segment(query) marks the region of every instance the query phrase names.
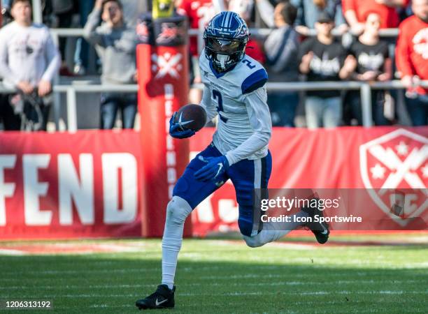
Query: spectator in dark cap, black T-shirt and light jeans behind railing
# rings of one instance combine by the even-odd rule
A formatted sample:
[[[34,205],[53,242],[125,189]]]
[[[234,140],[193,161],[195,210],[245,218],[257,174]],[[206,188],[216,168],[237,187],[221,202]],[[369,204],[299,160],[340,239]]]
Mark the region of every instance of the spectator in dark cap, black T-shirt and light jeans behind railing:
[[[331,34],[334,22],[327,13],[320,14],[315,23],[317,36],[308,38],[300,47],[299,70],[308,81],[346,80],[357,61]],[[306,124],[308,128],[333,128],[341,123],[342,103],[338,90],[308,91],[306,93]]]

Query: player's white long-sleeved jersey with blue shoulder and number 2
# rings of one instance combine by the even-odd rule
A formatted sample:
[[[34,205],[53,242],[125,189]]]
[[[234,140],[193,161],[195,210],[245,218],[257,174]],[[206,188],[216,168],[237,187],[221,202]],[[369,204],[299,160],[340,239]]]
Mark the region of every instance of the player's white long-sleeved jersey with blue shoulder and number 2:
[[[215,147],[227,157],[229,165],[266,156],[272,122],[263,66],[245,55],[232,70],[217,73],[203,53],[199,67],[204,83],[201,105],[208,121],[219,115],[213,135]]]

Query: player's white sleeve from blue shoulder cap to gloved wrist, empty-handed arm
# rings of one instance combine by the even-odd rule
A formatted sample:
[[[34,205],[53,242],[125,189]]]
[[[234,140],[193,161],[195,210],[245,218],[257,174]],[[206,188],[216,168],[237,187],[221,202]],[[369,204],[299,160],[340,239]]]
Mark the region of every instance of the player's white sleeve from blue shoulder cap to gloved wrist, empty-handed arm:
[[[271,138],[272,121],[269,107],[267,105],[266,88],[262,87],[245,95],[245,107],[250,119],[250,126],[254,133],[241,145],[228,151],[226,158],[229,165],[237,163],[239,160],[248,158],[259,149],[262,149]]]

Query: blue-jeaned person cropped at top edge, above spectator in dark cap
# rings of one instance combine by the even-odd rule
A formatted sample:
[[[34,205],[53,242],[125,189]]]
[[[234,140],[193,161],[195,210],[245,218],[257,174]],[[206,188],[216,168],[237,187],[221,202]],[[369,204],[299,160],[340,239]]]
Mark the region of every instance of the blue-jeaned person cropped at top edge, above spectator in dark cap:
[[[309,29],[314,29],[322,12],[333,17],[334,24],[342,33],[348,30],[340,0],[292,0],[291,3],[297,8],[296,29],[299,33],[307,35]]]

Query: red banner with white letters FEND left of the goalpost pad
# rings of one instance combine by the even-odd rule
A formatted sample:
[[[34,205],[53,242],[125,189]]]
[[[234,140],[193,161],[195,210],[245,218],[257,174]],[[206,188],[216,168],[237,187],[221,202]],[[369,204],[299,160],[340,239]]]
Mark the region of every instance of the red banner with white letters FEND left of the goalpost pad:
[[[0,133],[0,238],[141,235],[134,131]]]

